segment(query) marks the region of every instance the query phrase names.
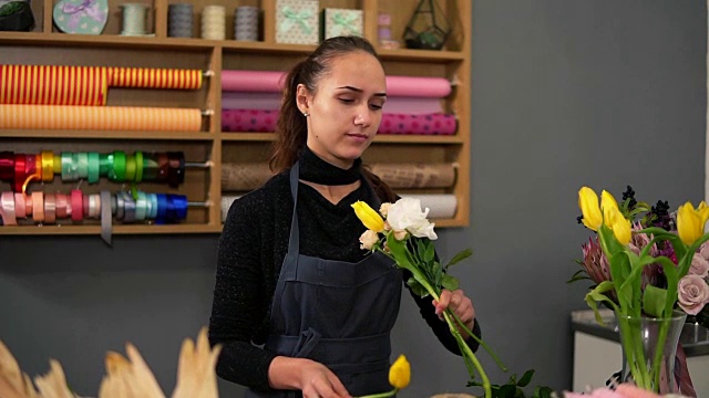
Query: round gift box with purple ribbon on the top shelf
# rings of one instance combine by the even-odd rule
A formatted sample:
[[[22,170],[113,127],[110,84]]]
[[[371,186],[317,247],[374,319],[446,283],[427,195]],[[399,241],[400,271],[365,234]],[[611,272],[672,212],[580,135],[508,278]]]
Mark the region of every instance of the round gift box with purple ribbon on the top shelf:
[[[109,1],[61,0],[54,6],[53,19],[64,33],[101,34],[109,20]]]

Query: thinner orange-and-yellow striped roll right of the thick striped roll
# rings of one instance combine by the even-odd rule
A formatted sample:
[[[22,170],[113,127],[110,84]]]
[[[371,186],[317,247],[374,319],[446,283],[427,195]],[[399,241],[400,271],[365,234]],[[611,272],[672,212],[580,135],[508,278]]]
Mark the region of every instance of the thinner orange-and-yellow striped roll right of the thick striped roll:
[[[202,71],[154,67],[109,67],[109,86],[136,88],[202,87]]]

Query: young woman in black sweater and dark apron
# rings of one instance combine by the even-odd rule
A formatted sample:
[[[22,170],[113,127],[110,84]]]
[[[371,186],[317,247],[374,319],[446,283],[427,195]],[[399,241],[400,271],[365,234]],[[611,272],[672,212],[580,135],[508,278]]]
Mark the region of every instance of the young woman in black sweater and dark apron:
[[[387,101],[383,67],[364,39],[339,36],[285,83],[276,176],[232,205],[219,240],[209,325],[212,344],[224,346],[217,374],[248,386],[246,397],[390,390],[389,334],[408,275],[360,249],[364,227],[350,206],[395,200],[360,160]],[[446,307],[480,334],[462,291],[434,303],[412,295],[451,352],[460,354],[439,318]]]

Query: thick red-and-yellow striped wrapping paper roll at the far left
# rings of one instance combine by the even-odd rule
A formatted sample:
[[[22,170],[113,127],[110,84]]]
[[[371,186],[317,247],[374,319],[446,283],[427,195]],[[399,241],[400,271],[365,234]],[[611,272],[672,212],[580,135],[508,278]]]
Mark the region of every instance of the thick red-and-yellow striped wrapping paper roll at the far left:
[[[105,105],[105,67],[0,65],[0,104]]]

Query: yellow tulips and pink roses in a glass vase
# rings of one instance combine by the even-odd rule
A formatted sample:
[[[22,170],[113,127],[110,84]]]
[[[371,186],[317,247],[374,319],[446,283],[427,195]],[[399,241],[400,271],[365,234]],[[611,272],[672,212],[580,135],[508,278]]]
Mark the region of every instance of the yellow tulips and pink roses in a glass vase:
[[[585,301],[595,311],[597,322],[604,323],[599,303],[615,312],[634,383],[659,391],[662,349],[656,348],[654,357],[645,357],[643,336],[624,320],[669,320],[681,311],[691,316],[690,321],[707,325],[709,244],[705,242],[709,233],[703,230],[709,207],[703,201],[698,208],[686,202],[670,214],[667,201],[648,206],[635,199],[630,187],[620,206],[607,191],[602,192],[599,202],[592,188],[583,187],[578,207],[578,221],[596,235],[583,245],[583,260],[577,261],[582,269],[569,282],[589,279],[595,283]],[[661,347],[668,333],[664,325],[657,347]],[[687,381],[689,374],[679,379]],[[691,380],[688,381],[690,387]]]

